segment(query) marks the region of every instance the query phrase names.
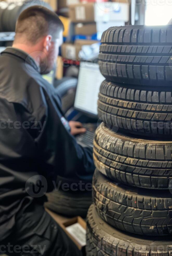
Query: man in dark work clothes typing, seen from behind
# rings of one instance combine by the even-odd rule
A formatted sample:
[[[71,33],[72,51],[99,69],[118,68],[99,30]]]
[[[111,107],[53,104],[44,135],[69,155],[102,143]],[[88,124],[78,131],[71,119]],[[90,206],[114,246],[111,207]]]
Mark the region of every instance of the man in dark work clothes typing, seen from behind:
[[[55,13],[30,7],[0,56],[0,253],[77,255],[43,207],[57,175],[88,178],[94,171],[91,150],[72,136],[85,129],[68,124],[41,77],[54,67],[62,31]]]

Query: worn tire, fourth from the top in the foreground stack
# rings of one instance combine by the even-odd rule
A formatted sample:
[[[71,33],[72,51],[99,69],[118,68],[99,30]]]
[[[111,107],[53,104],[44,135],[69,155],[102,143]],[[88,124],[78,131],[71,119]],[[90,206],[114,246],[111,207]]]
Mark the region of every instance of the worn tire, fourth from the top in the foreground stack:
[[[172,233],[172,198],[161,192],[113,183],[98,170],[93,177],[93,202],[99,216],[123,231],[149,236]]]

